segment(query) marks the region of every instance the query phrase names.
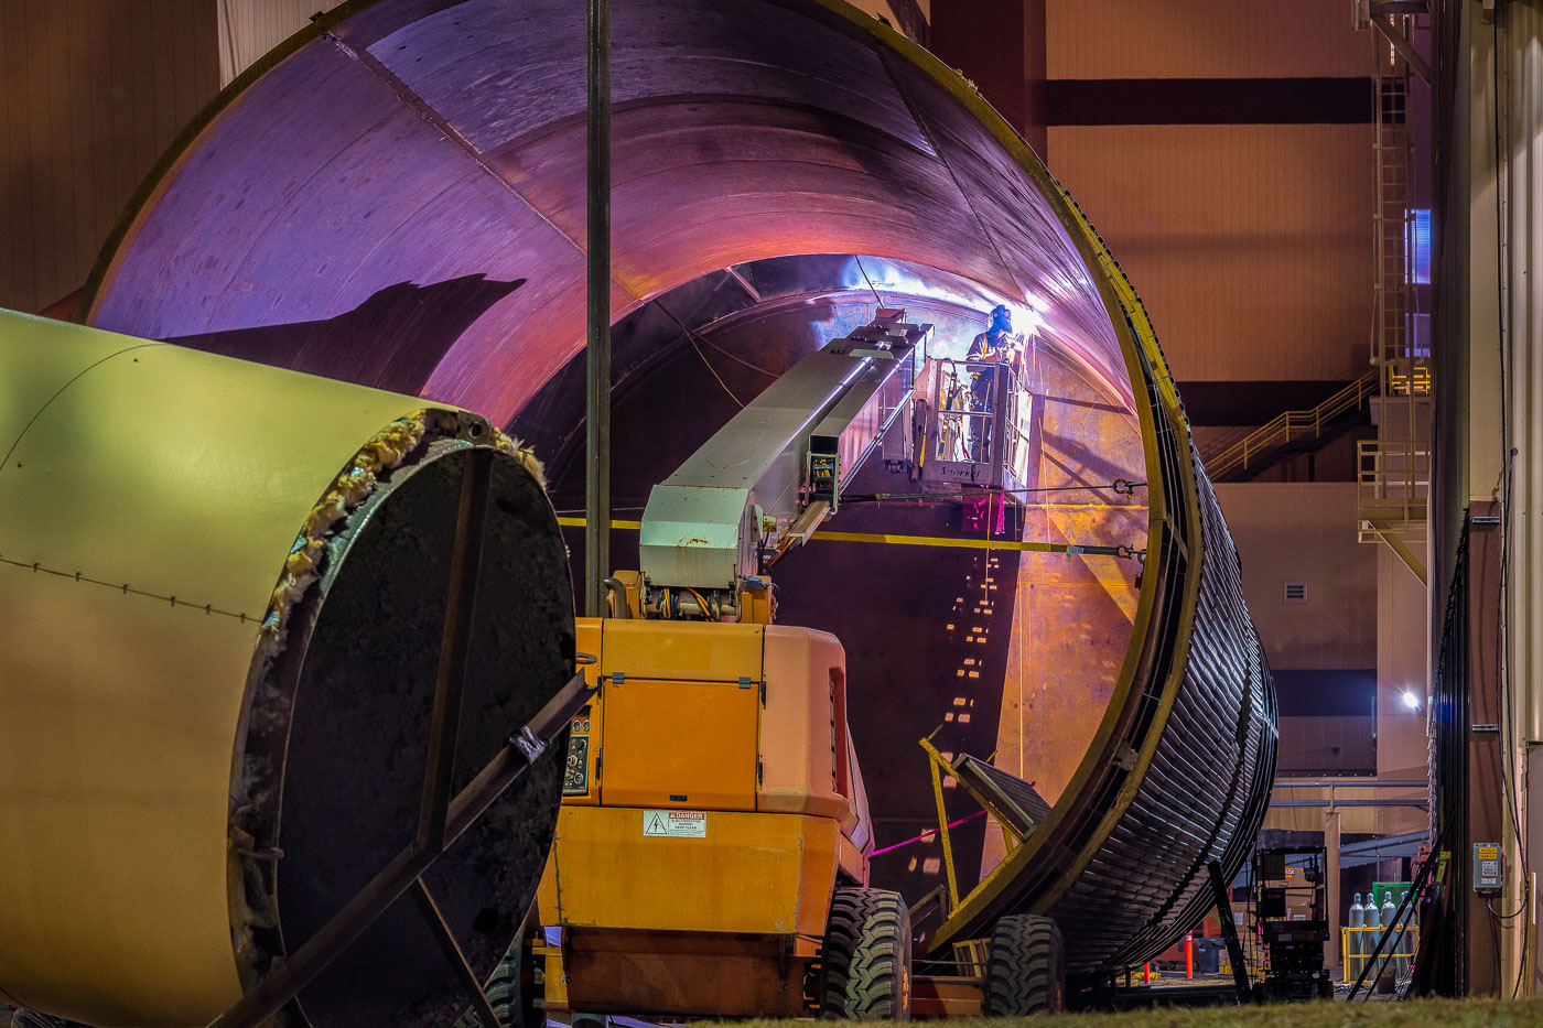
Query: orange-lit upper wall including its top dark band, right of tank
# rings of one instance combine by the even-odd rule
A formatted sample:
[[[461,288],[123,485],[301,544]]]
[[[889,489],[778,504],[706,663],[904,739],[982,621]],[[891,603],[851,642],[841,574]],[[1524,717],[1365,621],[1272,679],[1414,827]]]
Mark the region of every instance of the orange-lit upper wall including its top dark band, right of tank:
[[[1055,93],[1057,83],[1219,79],[1284,94],[1290,107],[1290,83],[1268,80],[1329,79],[1339,96],[1361,96],[1347,80],[1372,66],[1369,34],[1352,29],[1342,0],[1049,0],[1046,32],[1049,85],[1063,105],[1085,93]],[[1140,103],[1142,91],[1133,99]],[[1185,102],[1196,107],[1193,96]],[[1190,123],[1052,110],[1048,147],[1051,171],[1139,284],[1174,375],[1287,381],[1364,370],[1370,122],[1268,123],[1261,113],[1261,123],[1207,123],[1205,110],[1179,114]],[[1250,120],[1236,110],[1216,120],[1228,119]],[[1259,414],[1264,421],[1279,411]]]

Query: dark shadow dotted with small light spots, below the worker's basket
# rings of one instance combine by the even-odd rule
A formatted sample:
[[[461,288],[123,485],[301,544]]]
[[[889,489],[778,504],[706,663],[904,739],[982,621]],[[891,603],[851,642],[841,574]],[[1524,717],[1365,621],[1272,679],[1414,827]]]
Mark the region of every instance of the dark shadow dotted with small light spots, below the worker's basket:
[[[852,492],[904,492],[904,475],[870,458]],[[842,505],[833,531],[961,537],[957,500]],[[883,546],[813,540],[772,570],[778,619],[829,631],[847,651],[847,719],[873,817],[870,883],[918,903],[944,881],[937,804],[926,753],[981,759],[997,749],[1003,676],[1017,602],[1017,551]],[[949,820],[975,813],[950,789]],[[915,838],[923,832],[932,835]],[[913,840],[913,841],[906,841]],[[986,821],[952,832],[958,883],[980,878]],[[893,847],[893,849],[890,849]],[[935,926],[935,920],[929,928]]]

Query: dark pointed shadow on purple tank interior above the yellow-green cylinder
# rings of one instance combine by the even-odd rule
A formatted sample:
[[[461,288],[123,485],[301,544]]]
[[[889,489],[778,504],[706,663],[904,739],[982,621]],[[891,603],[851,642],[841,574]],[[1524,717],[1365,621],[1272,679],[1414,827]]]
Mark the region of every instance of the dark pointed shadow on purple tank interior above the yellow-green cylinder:
[[[165,341],[417,394],[461,333],[525,281],[478,273],[429,286],[397,282],[333,318],[179,335]]]

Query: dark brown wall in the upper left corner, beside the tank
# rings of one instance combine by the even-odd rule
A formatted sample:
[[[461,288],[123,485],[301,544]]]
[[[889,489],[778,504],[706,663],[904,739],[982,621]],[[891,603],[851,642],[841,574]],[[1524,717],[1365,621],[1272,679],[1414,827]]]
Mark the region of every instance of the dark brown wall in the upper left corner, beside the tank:
[[[0,307],[80,289],[119,211],[219,85],[214,0],[0,3]]]

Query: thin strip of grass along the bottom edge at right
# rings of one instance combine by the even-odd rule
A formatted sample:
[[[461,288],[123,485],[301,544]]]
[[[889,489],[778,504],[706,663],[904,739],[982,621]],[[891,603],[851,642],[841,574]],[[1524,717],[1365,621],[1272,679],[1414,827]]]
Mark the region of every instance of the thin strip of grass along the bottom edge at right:
[[[736,1022],[736,1028],[793,1028],[792,1020]],[[927,1022],[917,1022],[927,1023]],[[930,1022],[938,1028],[1543,1028],[1540,1000],[1409,1000],[1271,1003],[1268,1006],[1199,1006],[1140,1009],[1119,1014],[1062,1014],[997,1017],[991,1020]]]

